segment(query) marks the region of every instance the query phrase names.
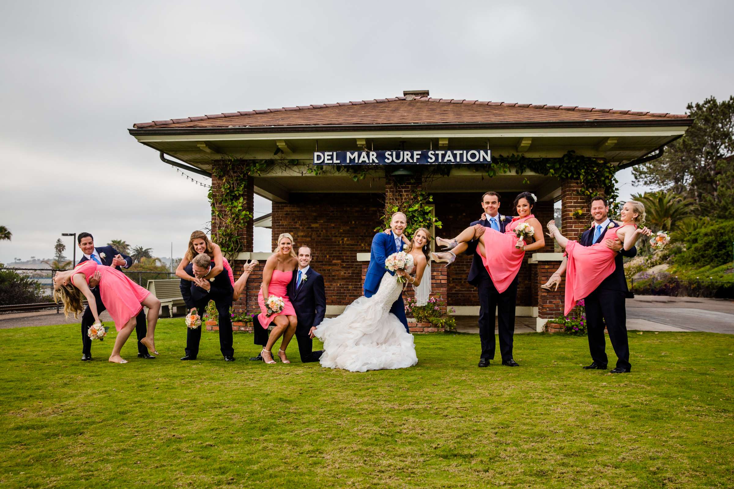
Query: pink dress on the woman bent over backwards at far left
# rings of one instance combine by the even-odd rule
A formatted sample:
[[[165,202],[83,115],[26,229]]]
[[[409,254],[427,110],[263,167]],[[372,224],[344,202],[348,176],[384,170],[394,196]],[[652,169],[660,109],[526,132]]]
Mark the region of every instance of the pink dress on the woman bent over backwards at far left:
[[[119,331],[131,318],[138,315],[142,309],[140,303],[150,295],[150,292],[127,278],[123,272],[92,260],[83,261],[74,269],[74,272],[84,275],[87,283],[97,271],[102,275],[99,281],[102,303],[115,321],[115,329]]]

